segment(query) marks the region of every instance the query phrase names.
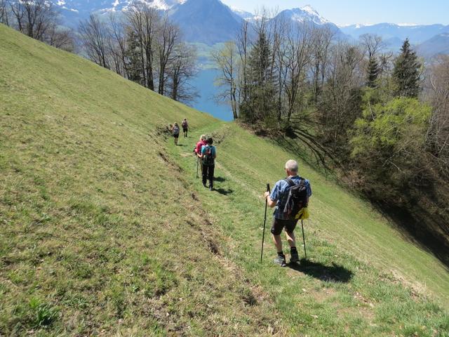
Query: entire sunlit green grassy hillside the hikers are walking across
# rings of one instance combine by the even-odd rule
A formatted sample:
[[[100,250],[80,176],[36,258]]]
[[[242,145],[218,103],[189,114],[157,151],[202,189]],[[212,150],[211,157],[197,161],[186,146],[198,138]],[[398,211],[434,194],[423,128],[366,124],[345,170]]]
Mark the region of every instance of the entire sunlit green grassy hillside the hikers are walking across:
[[[1,25],[0,102],[0,336],[449,336],[448,270],[307,164],[310,261],[258,262],[269,141]]]

